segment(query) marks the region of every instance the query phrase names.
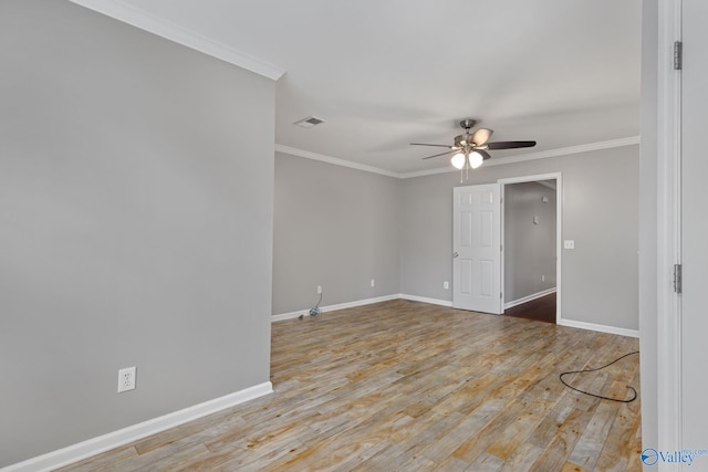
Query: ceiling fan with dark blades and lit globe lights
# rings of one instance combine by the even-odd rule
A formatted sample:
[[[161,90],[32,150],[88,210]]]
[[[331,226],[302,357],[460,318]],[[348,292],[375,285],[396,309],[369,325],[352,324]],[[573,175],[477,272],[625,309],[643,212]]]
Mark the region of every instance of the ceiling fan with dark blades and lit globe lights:
[[[435,146],[447,147],[449,150],[433,156],[424,157],[424,159],[430,159],[433,157],[445,156],[454,154],[450,162],[455,168],[462,170],[464,168],[472,169],[478,168],[482,162],[489,159],[491,156],[488,150],[496,149],[516,149],[520,147],[533,147],[535,141],[497,141],[487,143],[493,133],[491,129],[479,128],[473,133],[470,130],[475,127],[477,120],[467,118],[460,122],[460,126],[465,129],[465,133],[455,136],[455,144],[452,146],[444,144],[426,144],[426,143],[410,143],[413,146]]]

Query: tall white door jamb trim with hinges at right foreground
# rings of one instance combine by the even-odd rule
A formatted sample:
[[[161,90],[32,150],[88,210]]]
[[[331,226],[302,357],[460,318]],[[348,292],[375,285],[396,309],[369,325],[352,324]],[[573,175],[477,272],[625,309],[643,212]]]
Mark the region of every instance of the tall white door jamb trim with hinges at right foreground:
[[[673,291],[680,263],[680,71],[673,69],[681,38],[681,0],[658,1],[657,71],[657,430],[660,449],[683,447],[680,297]],[[659,469],[660,470],[660,469]],[[668,470],[668,468],[666,468]]]

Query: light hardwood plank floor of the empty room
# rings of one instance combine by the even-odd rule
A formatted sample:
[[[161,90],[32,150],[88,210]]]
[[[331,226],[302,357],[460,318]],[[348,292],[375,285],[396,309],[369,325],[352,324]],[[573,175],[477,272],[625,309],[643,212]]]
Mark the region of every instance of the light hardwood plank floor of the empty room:
[[[634,338],[392,301],[272,325],[275,392],[65,471],[639,471],[639,399],[559,381]],[[566,377],[624,397],[638,356]]]

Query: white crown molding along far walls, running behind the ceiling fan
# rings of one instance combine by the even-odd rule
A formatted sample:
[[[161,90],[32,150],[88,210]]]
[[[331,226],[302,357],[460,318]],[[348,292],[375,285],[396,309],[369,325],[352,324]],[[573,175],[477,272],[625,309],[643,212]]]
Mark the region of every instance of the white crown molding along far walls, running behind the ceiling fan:
[[[639,136],[631,136],[627,138],[611,139],[606,141],[590,143],[579,146],[562,147],[559,149],[542,150],[539,153],[524,154],[520,156],[501,157],[485,162],[485,167],[502,166],[504,164],[523,162],[527,160],[545,159],[549,157],[569,156],[572,154],[587,153],[591,150],[611,149],[614,147],[632,146],[639,144]],[[275,150],[291,156],[304,157],[305,159],[320,160],[322,162],[333,164],[335,166],[348,167],[352,169],[364,170],[366,172],[379,174],[382,176],[395,177],[397,179],[410,179],[414,177],[435,176],[438,174],[457,172],[450,166],[439,167],[437,169],[417,170],[415,172],[394,172],[393,170],[379,169],[378,167],[365,166],[363,164],[352,162],[350,160],[339,159],[336,157],[325,156],[322,154],[311,153],[290,146],[275,144]]]

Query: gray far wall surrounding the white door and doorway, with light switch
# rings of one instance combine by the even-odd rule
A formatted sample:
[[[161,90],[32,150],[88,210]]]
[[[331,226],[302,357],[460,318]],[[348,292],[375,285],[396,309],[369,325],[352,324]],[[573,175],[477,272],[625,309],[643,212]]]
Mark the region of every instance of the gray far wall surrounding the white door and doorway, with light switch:
[[[451,300],[452,187],[562,172],[562,238],[575,240],[563,252],[562,316],[637,329],[638,154],[633,145],[482,166],[465,183],[458,172],[403,180],[402,293]]]

